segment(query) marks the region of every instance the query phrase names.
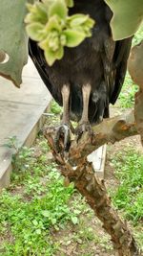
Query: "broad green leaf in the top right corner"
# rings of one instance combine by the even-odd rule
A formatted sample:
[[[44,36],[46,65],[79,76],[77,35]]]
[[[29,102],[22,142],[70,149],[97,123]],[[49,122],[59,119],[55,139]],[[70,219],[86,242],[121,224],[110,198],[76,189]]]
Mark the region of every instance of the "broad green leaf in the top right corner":
[[[104,0],[113,12],[111,27],[114,40],[133,35],[143,20],[143,0]]]

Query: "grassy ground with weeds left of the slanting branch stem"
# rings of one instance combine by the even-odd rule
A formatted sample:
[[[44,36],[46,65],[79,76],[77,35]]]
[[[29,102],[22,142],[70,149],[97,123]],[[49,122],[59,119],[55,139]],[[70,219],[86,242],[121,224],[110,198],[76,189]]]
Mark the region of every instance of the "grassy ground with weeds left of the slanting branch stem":
[[[98,237],[90,207],[72,184],[64,187],[48,153],[47,141],[40,135],[33,148],[23,147],[13,158],[10,188],[0,197],[0,255],[66,255],[61,247],[78,244],[79,250],[87,251],[81,255],[92,256],[90,243],[110,251],[109,237]]]

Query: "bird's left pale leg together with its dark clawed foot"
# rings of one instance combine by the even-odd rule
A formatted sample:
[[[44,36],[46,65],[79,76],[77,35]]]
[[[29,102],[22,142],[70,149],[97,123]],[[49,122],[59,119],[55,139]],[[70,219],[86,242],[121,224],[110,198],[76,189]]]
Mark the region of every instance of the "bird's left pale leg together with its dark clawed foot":
[[[64,84],[61,90],[63,99],[63,116],[61,124],[56,128],[55,134],[55,148],[60,151],[60,139],[64,142],[64,151],[68,151],[70,148],[70,84]]]

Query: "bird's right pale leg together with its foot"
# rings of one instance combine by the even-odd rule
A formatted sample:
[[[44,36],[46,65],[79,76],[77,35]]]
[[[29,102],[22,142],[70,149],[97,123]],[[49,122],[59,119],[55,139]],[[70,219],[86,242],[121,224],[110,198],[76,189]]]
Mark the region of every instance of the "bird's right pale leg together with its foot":
[[[84,131],[92,130],[89,122],[89,117],[88,117],[90,95],[91,95],[91,84],[87,83],[82,87],[83,111],[82,111],[81,119],[79,121],[79,125],[75,130],[76,134],[78,135],[78,138],[81,137]]]

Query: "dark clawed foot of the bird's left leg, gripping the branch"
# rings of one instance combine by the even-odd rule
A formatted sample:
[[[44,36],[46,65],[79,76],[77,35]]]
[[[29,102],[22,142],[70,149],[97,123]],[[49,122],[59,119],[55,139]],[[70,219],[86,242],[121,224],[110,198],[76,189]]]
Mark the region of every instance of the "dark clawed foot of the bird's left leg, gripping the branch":
[[[71,146],[71,128],[67,124],[62,124],[56,128],[54,145],[56,151],[69,151]]]

